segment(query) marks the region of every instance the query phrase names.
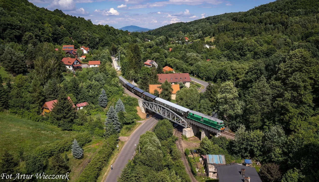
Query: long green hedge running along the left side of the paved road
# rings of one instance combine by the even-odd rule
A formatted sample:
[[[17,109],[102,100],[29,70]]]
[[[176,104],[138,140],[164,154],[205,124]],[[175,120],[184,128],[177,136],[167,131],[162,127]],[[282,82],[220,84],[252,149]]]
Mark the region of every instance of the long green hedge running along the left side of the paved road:
[[[117,138],[117,135],[111,135],[106,139],[102,148],[92,157],[91,162],[86,165],[77,182],[96,182],[101,170],[107,164],[116,148],[118,143]]]

